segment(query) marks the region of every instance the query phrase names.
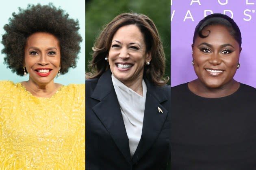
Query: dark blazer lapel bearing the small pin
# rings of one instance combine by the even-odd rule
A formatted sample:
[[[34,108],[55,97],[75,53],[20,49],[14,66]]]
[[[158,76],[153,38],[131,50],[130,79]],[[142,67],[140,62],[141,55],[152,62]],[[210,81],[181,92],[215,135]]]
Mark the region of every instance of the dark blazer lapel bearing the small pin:
[[[133,164],[136,163],[150,149],[158,138],[168,115],[168,110],[161,103],[168,100],[165,91],[161,87],[156,87],[144,79],[147,85],[147,96],[141,140],[135,154],[132,157]],[[159,108],[159,109],[158,109]]]

